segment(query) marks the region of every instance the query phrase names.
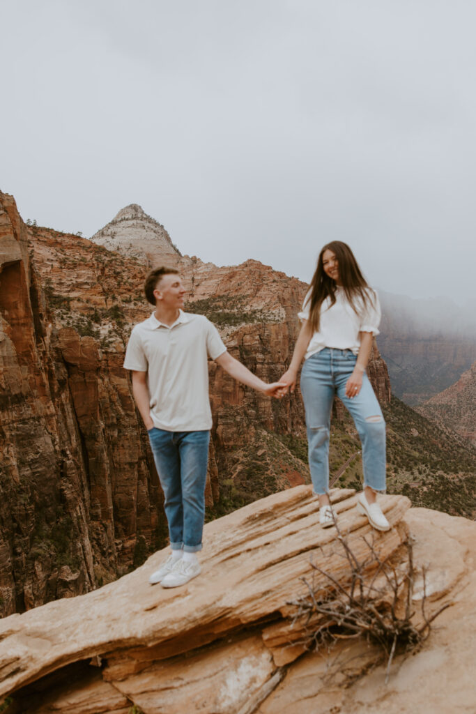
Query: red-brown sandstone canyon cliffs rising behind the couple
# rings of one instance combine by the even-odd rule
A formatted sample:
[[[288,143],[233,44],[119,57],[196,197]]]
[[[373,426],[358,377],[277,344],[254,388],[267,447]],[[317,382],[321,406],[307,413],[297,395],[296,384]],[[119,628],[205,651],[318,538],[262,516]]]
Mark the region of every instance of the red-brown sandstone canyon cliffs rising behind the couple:
[[[217,268],[185,256],[178,264],[188,309],[214,319],[231,353],[261,378],[278,379],[307,286],[257,261]],[[166,543],[158,477],[122,368],[133,324],[152,311],[142,295],[145,272],[136,257],[25,226],[14,199],[0,193],[4,615],[88,592]],[[390,382],[376,348],[369,373],[387,403]],[[307,466],[286,441],[305,437],[299,394],[272,401],[215,363],[210,383],[212,515],[308,483]]]

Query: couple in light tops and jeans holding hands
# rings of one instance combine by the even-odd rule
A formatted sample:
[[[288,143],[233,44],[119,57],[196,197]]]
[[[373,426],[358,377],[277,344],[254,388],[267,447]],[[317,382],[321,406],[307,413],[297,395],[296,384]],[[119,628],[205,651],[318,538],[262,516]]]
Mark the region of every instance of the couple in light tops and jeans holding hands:
[[[333,526],[328,497],[329,433],[337,394],[353,416],[362,442],[364,488],[358,509],[379,531],[390,524],[376,501],[385,491],[385,421],[365,373],[380,305],[346,243],[319,253],[313,280],[298,316],[302,326],[288,371],[266,384],[226,350],[203,315],[183,312],[186,289],[175,268],[151,271],[144,285],[155,311],[133,328],[124,368],[132,372],[133,397],[148,431],[165,497],[171,554],[149,578],[175,588],[201,572],[208,443],[212,426],[208,358],[233,378],[281,398],[300,388],[305,406],[309,468],[319,498],[319,522]]]

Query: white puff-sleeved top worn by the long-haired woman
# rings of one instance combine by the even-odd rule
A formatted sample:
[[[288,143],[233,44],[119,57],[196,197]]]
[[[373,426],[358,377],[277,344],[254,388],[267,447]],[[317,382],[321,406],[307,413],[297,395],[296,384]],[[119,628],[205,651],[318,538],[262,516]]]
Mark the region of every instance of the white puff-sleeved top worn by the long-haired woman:
[[[380,302],[375,290],[368,288],[366,292],[369,300],[365,305],[361,298],[356,298],[355,306],[359,314],[356,314],[348,299],[345,297],[343,288],[336,288],[335,303],[330,306],[330,298],[326,298],[320,308],[319,331],[310,338],[308,350],[304,358],[319,352],[325,347],[334,347],[340,350],[352,350],[355,355],[360,348],[359,332],[371,332],[378,335],[380,325]],[[309,319],[310,309],[309,290],[304,298],[303,309],[298,313],[300,320]]]

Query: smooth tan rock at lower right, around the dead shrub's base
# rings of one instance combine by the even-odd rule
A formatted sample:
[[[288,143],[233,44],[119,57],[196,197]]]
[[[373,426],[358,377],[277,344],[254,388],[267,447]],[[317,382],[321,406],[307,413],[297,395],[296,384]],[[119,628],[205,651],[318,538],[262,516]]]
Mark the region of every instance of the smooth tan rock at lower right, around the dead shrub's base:
[[[288,670],[257,714],[473,714],[476,702],[476,523],[426,508],[411,508],[404,521],[414,540],[419,610],[425,570],[427,613],[450,603],[430,637],[395,658],[385,683],[385,663],[363,641],[328,653],[309,653]]]

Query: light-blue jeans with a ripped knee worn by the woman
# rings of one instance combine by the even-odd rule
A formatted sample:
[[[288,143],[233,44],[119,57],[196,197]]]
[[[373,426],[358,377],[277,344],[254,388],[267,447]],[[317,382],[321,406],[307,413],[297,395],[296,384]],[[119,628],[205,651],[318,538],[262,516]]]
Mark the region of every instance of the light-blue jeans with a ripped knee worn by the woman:
[[[310,476],[317,494],[329,488],[330,412],[335,393],[350,411],[362,442],[364,487],[385,491],[385,421],[368,376],[363,374],[358,396],[345,396],[345,383],[356,361],[350,350],[325,347],[308,357],[301,371]]]

